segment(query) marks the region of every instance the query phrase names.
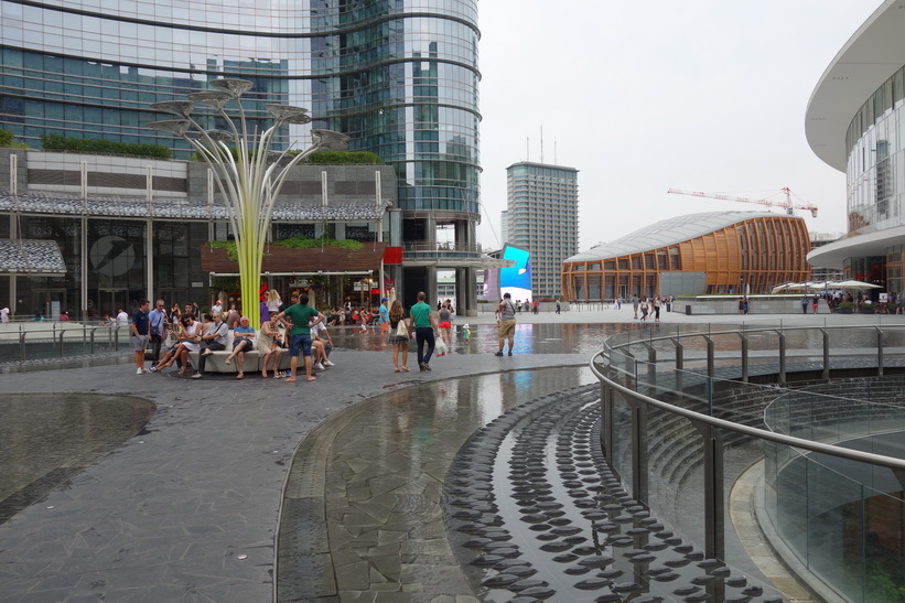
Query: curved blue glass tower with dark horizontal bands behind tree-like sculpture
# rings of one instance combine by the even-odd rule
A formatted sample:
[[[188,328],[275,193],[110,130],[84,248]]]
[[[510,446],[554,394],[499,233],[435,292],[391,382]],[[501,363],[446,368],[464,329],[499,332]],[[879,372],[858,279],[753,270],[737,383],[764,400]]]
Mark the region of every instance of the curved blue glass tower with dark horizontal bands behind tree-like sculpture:
[[[183,143],[144,128],[168,118],[150,105],[249,79],[244,104],[259,128],[265,103],[311,109],[314,121],[287,127],[281,144],[338,130],[395,168],[406,299],[435,290],[437,268],[455,268],[471,279],[459,290],[474,291],[476,12],[477,0],[0,0],[0,128],[32,148],[58,132],[160,143],[185,159]],[[454,229],[452,248],[440,248],[438,228]]]

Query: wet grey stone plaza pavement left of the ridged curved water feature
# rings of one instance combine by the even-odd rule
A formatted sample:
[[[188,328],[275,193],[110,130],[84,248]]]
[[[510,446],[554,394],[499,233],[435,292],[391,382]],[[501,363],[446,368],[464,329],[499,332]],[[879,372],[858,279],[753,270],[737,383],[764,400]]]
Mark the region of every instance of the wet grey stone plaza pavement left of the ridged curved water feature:
[[[631,310],[600,314],[522,321],[504,358],[489,353],[492,319],[478,316],[430,373],[392,373],[376,335],[346,331],[337,366],[314,384],[136,376],[129,364],[3,375],[3,428],[20,444],[34,424],[46,437],[2,451],[0,484],[32,498],[0,500],[11,515],[0,601],[491,596],[448,536],[448,469],[503,412],[593,383],[590,355],[633,324]],[[41,392],[39,403],[12,396]],[[90,403],[63,411],[73,398],[58,394]],[[103,412],[118,419],[76,420],[111,399]],[[67,452],[49,454],[57,448]]]

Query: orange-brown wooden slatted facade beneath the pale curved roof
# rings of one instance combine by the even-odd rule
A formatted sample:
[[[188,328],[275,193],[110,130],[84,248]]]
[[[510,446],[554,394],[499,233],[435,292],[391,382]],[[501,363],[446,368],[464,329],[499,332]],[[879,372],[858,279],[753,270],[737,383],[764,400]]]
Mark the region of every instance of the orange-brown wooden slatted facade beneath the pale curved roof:
[[[705,294],[768,293],[784,282],[810,278],[810,239],[805,220],[783,215],[753,217],[698,237],[637,254],[567,261],[567,300],[600,301],[616,295],[669,295],[662,272],[705,273]]]

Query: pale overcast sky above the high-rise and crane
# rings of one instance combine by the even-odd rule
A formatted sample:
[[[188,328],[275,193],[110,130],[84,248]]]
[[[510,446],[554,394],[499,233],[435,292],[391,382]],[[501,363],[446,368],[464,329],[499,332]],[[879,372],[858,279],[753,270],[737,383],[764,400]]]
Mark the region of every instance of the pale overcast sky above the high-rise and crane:
[[[541,129],[543,162],[579,170],[580,251],[668,217],[765,209],[670,187],[788,186],[819,207],[797,212],[809,230],[844,233],[845,176],[810,150],[805,111],[880,3],[482,0],[478,241],[499,247],[506,168],[541,161]]]

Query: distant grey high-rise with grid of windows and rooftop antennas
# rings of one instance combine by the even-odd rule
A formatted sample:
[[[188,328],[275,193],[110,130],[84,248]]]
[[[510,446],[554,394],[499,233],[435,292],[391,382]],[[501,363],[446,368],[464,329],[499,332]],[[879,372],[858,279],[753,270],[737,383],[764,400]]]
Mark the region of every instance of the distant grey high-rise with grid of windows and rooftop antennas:
[[[579,171],[521,162],[506,169],[507,243],[531,254],[535,298],[562,294],[562,262],[579,246]]]

